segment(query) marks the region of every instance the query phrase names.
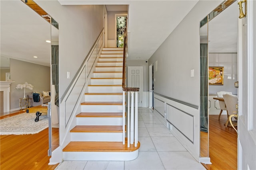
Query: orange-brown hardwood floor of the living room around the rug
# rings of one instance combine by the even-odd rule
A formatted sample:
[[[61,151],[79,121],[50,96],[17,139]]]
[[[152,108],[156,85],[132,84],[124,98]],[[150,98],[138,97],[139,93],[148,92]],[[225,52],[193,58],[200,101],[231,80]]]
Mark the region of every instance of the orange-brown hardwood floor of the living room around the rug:
[[[0,135],[0,155],[1,170],[54,170],[58,166],[48,165],[48,128],[36,134]]]

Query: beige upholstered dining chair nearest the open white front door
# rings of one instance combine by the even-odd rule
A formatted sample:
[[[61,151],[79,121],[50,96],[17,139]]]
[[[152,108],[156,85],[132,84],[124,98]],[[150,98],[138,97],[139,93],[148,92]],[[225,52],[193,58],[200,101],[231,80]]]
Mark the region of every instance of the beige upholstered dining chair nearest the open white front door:
[[[238,114],[237,114],[238,98],[236,95],[232,95],[232,94],[224,94],[223,98],[228,110],[228,120],[226,121],[225,126],[227,127],[228,122],[230,122],[230,125],[235,129],[237,133],[237,130],[232,123],[232,117],[238,117]]]

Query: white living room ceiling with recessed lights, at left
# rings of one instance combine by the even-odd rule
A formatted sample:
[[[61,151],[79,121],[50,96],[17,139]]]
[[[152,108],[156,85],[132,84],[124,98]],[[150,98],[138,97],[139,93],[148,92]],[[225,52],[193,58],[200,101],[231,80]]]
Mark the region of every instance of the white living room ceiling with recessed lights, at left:
[[[51,40],[50,23],[21,0],[0,0],[0,3],[1,58],[50,66],[50,43],[45,42]],[[1,60],[1,68],[6,67],[3,63]]]

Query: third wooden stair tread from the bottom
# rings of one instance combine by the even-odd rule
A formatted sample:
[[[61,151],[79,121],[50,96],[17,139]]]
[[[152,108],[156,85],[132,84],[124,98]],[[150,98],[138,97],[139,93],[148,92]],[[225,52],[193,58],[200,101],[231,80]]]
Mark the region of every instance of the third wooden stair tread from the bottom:
[[[102,113],[102,112],[82,112],[76,115],[76,117],[122,117],[122,112],[109,112],[109,113]],[[126,116],[126,113],[125,113]]]

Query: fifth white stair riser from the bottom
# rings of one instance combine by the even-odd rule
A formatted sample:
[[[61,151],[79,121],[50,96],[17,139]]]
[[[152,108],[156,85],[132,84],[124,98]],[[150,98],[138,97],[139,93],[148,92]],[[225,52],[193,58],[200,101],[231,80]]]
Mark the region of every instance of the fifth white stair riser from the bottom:
[[[122,102],[123,95],[85,95],[85,102]]]

